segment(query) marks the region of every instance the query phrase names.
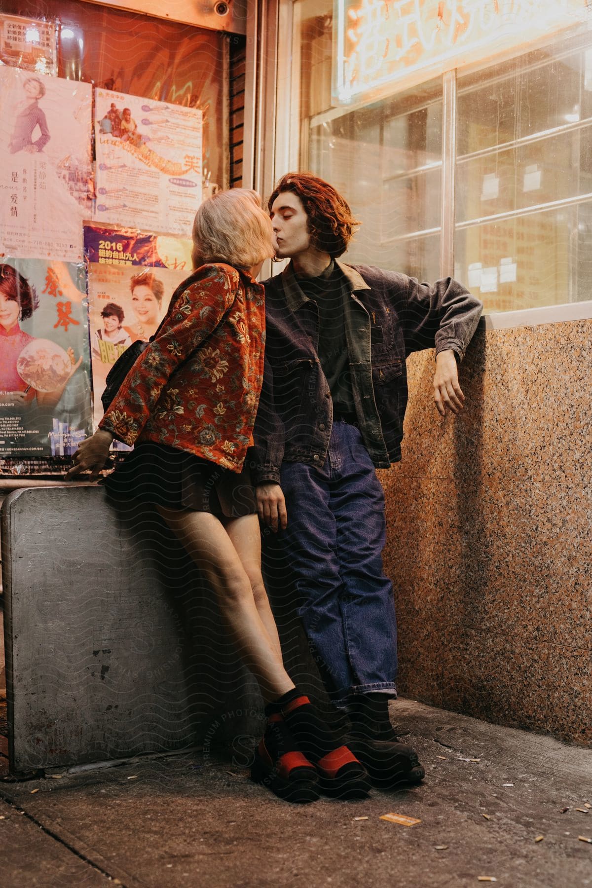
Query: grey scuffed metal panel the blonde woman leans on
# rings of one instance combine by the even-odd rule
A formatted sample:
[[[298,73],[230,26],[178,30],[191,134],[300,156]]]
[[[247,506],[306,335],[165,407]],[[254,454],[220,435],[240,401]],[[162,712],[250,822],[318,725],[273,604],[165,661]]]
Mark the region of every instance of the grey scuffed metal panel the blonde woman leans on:
[[[116,511],[94,486],[25,488],[2,538],[14,773],[260,730],[257,685],[152,511]]]

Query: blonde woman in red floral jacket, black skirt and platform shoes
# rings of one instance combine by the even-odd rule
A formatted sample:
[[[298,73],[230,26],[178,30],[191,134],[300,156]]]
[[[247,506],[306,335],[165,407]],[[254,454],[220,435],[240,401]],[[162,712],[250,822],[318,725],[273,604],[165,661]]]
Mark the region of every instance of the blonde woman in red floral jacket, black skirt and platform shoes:
[[[255,192],[236,188],[201,204],[195,271],[67,478],[96,479],[114,438],[134,446],[107,488],[154,505],[207,577],[267,704],[252,778],[293,802],[310,802],[320,789],[365,797],[363,766],[284,669],[261,575],[248,452],[264,365],[264,289],[255,278],[273,254],[271,222]]]

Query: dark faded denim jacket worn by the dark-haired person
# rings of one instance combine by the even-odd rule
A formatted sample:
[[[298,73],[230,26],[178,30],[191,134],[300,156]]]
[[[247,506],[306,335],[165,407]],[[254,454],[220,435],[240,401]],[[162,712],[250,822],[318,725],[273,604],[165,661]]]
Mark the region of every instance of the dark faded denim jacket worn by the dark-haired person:
[[[433,286],[406,274],[336,263],[351,285],[345,330],[359,431],[377,468],[401,458],[407,354],[436,346],[459,361],[483,305],[452,278]],[[264,281],[264,385],[255,424],[254,482],[280,481],[282,462],[322,465],[333,404],[320,368],[319,313],[291,266]]]

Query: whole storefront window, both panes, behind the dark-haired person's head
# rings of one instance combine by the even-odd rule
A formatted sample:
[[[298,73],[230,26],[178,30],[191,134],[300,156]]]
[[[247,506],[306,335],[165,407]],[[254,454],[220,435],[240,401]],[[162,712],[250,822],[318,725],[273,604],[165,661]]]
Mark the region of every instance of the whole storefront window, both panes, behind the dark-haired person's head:
[[[350,261],[422,280],[444,266],[487,312],[589,298],[586,23],[531,52],[458,68],[455,113],[446,120],[443,72],[386,96],[383,87],[379,99],[369,92],[363,101],[359,91],[350,105],[336,100],[333,4],[296,0],[294,23],[290,165],[327,178],[351,202],[362,226]],[[455,147],[446,130],[453,126]],[[454,202],[443,206],[446,168],[454,170]],[[454,226],[454,253],[444,257],[443,226]]]

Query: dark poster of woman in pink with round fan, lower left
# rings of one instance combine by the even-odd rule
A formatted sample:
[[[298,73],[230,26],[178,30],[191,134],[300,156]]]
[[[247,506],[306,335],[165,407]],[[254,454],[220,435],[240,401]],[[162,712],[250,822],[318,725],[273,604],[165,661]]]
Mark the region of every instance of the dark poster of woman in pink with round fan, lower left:
[[[82,264],[0,258],[0,457],[69,457],[91,433]]]

